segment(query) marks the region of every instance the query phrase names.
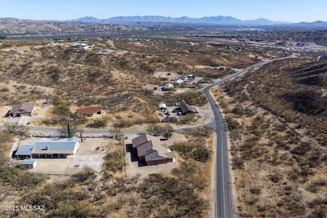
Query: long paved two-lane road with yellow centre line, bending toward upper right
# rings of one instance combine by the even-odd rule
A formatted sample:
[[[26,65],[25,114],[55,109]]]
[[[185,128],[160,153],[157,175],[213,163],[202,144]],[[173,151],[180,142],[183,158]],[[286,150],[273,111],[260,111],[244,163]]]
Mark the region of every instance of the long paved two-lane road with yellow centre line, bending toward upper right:
[[[217,143],[216,143],[216,185],[215,185],[215,208],[214,208],[214,217],[235,217],[234,216],[234,208],[233,208],[233,199],[232,199],[232,189],[231,189],[231,179],[230,179],[230,167],[229,167],[229,157],[228,157],[228,139],[227,139],[227,127],[225,124],[225,120],[223,114],[210,93],[210,90],[218,86],[224,82],[227,82],[231,79],[234,79],[240,75],[245,74],[246,72],[254,69],[255,67],[259,67],[265,63],[272,62],[275,60],[281,60],[285,58],[293,58],[298,54],[293,54],[284,58],[276,58],[272,60],[266,60],[260,62],[258,64],[254,64],[237,74],[231,75],[223,80],[216,82],[213,85],[207,86],[203,89],[203,93],[209,100],[209,103],[214,112],[215,122],[213,123],[213,127],[215,132],[217,133]]]

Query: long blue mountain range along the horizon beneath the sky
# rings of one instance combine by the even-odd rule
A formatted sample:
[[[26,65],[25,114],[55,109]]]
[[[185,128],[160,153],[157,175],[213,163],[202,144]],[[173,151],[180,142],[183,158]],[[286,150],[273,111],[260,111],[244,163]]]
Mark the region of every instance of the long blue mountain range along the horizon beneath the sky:
[[[110,17],[107,19],[98,19],[95,17],[81,17],[72,22],[88,22],[88,23],[102,23],[102,24],[123,24],[123,23],[142,23],[142,22],[173,22],[173,23],[201,23],[212,25],[238,25],[238,26],[266,26],[266,25],[285,25],[291,22],[285,21],[271,21],[264,18],[255,20],[241,20],[231,16],[214,16],[214,17],[202,17],[191,18],[187,16],[183,17],[165,17],[165,16],[119,16]]]

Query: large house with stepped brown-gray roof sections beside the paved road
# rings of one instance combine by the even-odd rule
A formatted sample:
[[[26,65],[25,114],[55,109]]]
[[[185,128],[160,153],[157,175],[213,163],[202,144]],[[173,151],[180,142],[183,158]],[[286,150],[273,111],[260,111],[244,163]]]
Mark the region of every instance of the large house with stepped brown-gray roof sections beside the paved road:
[[[143,134],[132,139],[132,147],[137,153],[140,161],[145,161],[147,165],[157,165],[173,162],[174,155],[167,148],[166,144],[161,144],[159,138]]]

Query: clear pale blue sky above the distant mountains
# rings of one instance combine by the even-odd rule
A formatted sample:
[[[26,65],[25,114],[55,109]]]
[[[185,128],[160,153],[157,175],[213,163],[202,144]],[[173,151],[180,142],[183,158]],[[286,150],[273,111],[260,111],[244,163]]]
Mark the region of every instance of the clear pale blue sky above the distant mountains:
[[[232,16],[241,20],[327,21],[326,0],[6,0],[0,17],[34,20],[70,20],[85,16],[160,15],[170,17]]]

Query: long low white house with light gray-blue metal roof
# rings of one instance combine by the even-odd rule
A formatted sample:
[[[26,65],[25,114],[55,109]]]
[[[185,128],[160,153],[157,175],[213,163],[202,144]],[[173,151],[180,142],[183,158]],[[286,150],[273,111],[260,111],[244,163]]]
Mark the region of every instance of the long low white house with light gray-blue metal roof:
[[[30,141],[21,144],[15,153],[17,159],[32,158],[66,158],[75,155],[81,138],[72,137],[49,141]]]

